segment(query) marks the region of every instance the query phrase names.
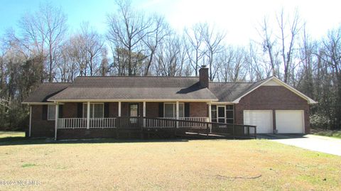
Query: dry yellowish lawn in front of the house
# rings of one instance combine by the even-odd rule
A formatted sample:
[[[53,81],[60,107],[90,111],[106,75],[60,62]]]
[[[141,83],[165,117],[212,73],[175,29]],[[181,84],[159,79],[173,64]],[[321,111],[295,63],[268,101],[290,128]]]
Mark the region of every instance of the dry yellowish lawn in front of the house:
[[[0,133],[0,190],[338,190],[341,157],[266,140],[45,142]],[[36,181],[9,185],[4,181]]]

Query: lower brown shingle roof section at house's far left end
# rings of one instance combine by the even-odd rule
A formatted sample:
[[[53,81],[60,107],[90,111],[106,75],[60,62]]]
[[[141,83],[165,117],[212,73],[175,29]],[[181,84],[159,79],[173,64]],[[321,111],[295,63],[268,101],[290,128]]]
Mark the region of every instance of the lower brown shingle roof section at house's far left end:
[[[27,102],[48,102],[47,100],[63,89],[67,88],[70,83],[43,83],[23,101]]]

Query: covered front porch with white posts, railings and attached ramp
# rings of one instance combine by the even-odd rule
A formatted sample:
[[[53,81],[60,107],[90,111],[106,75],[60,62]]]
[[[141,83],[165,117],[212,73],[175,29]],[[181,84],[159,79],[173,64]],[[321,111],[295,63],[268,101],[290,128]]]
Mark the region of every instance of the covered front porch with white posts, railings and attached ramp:
[[[211,111],[211,104],[207,102],[57,102],[55,108],[51,105],[48,111],[48,116],[53,116],[55,111],[55,139],[119,138],[122,133],[128,133],[129,138],[132,133],[141,138],[166,138],[186,133],[256,136],[254,126],[211,119],[216,111]]]

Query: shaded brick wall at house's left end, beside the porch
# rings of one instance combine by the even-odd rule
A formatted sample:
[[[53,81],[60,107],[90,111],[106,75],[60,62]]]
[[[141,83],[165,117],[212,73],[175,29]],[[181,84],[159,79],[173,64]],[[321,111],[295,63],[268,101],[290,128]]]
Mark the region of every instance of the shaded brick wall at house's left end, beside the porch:
[[[43,106],[32,106],[31,137],[54,137],[55,120],[48,121],[42,119]]]

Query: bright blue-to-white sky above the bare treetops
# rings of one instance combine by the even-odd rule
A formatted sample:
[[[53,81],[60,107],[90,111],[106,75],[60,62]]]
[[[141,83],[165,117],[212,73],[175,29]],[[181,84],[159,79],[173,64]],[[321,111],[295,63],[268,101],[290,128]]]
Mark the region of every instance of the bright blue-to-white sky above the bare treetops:
[[[38,9],[36,0],[1,0],[0,33],[7,28],[16,29],[18,20],[25,12]],[[106,16],[117,10],[114,0],[55,0],[67,14],[70,31],[76,31],[82,21],[89,21],[99,33],[106,32]],[[245,45],[249,39],[258,38],[256,29],[264,16],[275,16],[283,7],[286,12],[299,10],[307,23],[308,33],[320,38],[329,29],[341,24],[341,1],[267,1],[267,0],[141,0],[133,1],[136,9],[146,13],[159,13],[166,17],[175,30],[193,26],[197,22],[207,22],[215,28],[227,32],[227,43]],[[276,23],[271,23],[276,25]]]

